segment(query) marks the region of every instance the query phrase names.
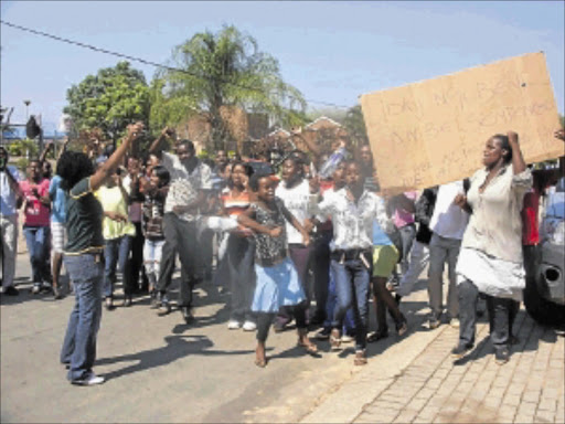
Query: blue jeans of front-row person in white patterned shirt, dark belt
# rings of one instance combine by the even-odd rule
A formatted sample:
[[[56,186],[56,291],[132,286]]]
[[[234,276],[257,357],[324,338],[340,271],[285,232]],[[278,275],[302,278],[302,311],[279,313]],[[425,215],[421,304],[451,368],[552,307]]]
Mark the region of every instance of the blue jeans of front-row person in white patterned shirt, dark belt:
[[[332,328],[341,329],[343,317],[352,306],[356,329],[355,349],[365,349],[371,271],[359,258],[347,259],[343,263],[332,258],[331,268],[335,276],[335,293],[338,294]]]

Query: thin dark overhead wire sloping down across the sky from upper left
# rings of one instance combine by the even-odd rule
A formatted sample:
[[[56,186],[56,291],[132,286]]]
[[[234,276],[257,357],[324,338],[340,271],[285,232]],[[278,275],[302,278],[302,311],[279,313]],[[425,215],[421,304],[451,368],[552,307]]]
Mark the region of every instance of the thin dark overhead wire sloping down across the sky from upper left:
[[[222,78],[213,78],[213,77],[210,77],[210,76],[198,75],[198,74],[194,74],[194,73],[192,73],[192,72],[190,72],[188,70],[182,70],[182,68],[174,67],[174,66],[163,65],[161,63],[148,61],[148,60],[145,60],[145,59],[141,59],[141,57],[136,57],[136,56],[132,56],[132,55],[129,55],[129,54],[124,54],[124,53],[114,52],[114,51],[110,51],[110,50],[107,50],[107,49],[97,47],[97,46],[92,45],[92,44],[86,44],[86,43],[83,43],[83,42],[79,42],[79,41],[66,39],[66,38],[54,35],[54,34],[50,34],[47,32],[33,30],[31,28],[18,25],[18,24],[4,21],[4,20],[0,20],[0,23],[4,24],[7,26],[10,26],[10,28],[14,28],[14,29],[20,30],[20,31],[29,32],[29,33],[32,33],[32,34],[35,34],[35,35],[45,36],[47,39],[56,40],[56,41],[60,41],[60,42],[63,42],[63,43],[77,45],[79,47],[93,50],[93,51],[98,52],[98,53],[105,53],[105,54],[114,55],[114,56],[117,56],[117,57],[127,59],[127,60],[132,61],[132,62],[139,62],[139,63],[142,63],[145,65],[160,67],[160,68],[168,70],[168,71],[171,71],[171,72],[184,73],[184,74],[188,74],[188,75],[193,76],[195,78],[209,80],[209,81],[218,81],[221,83],[230,84],[230,85],[233,85],[233,86],[238,87],[238,88],[254,91],[254,92],[260,92],[260,89],[257,88],[257,87],[252,87],[252,86],[246,86],[246,85],[242,85],[242,84],[236,84],[236,83],[233,83],[233,82],[230,82],[230,81],[226,81],[226,80],[222,80]],[[287,97],[288,98],[292,98],[295,100],[299,100],[299,98],[296,97],[296,96],[288,95]],[[338,105],[338,104],[331,103],[331,102],[315,100],[315,99],[310,99],[310,98],[303,98],[303,100],[307,102],[307,103],[319,104],[319,105],[337,107],[337,108],[344,108],[344,109],[349,109],[351,107],[351,106]]]

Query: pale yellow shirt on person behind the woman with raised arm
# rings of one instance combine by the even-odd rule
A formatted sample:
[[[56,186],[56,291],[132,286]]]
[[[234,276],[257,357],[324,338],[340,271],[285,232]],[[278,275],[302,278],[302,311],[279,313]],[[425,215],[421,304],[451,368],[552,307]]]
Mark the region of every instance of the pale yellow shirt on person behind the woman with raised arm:
[[[121,195],[119,187],[108,188],[100,187],[96,193],[96,198],[102,204],[104,212],[117,212],[128,216],[128,205]],[[114,240],[122,235],[136,235],[136,226],[128,220],[127,222],[110,220],[105,216],[102,223],[102,232],[105,240]]]

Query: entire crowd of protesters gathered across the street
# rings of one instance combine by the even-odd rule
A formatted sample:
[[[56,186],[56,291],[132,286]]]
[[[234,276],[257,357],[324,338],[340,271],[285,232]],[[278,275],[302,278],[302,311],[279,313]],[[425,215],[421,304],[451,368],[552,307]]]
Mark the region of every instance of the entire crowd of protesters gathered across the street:
[[[96,338],[103,308],[118,306],[117,277],[121,306],[147,294],[150,307],[168,315],[177,258],[183,321],[194,321],[198,284],[225,287],[227,329],[256,331],[260,368],[268,362],[270,327],[284,331],[292,320],[306,354],[319,354],[308,336],[318,328],[317,340],[328,340],[331,350],[353,342],[354,364],[365,364],[366,343],[388,337],[387,311],[397,335],[407,332],[402,299],[426,267],[427,326],[459,328],[452,356],[473,348],[484,301],[495,360],[510,359],[526,278],[523,240],[532,242],[524,232],[537,227],[537,214],[526,208],[536,210],[546,188],[534,184],[515,132],[489,138],[483,167],[469,179],[390,193],[379,186],[371,148],[352,149],[344,132],[330,151],[302,138],[309,151],[258,166],[225,151],[199,159],[193,142],[169,128],[143,156],[131,156],[142,130],[140,123],[130,125],[119,147],[98,157],[65,144],[55,176],[45,160],[49,147],[29,162],[26,178],[0,147],[2,295],[19,294],[13,277],[23,208],[32,293],[62,298],[63,262],[72,282],[76,300],[61,351],[72,383],[104,382],[93,371]],[[563,139],[563,130],[556,137]]]

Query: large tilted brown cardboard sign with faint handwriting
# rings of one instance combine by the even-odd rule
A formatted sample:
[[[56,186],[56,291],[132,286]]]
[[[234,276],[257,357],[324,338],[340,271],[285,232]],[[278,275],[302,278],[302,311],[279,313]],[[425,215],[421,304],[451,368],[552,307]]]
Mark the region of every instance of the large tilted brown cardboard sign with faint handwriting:
[[[470,177],[484,142],[518,132],[526,162],[564,155],[543,53],[361,96],[382,188],[424,189]]]

